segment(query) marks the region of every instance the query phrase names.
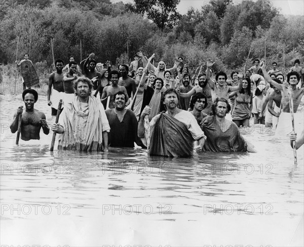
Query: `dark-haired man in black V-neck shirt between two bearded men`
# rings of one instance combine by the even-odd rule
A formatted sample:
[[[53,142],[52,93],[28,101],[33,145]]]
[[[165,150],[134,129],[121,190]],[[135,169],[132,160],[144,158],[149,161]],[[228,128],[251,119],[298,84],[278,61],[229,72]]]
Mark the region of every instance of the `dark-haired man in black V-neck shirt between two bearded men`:
[[[111,147],[134,147],[137,141],[138,121],[130,109],[126,109],[127,95],[118,91],[114,95],[115,108],[105,111],[110,125],[108,143]]]

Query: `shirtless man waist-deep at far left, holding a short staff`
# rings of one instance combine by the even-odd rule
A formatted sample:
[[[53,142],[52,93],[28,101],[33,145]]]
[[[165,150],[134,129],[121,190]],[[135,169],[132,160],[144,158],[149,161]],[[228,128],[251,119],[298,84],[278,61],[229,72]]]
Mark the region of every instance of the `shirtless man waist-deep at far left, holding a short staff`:
[[[18,130],[18,121],[21,116],[21,140],[29,141],[31,139],[40,140],[40,129],[43,133],[49,134],[50,128],[47,124],[46,115],[34,109],[34,104],[37,102],[38,94],[34,89],[25,89],[22,93],[22,99],[25,104],[25,111],[23,106],[19,106],[17,112],[14,114],[14,120],[10,126],[11,132],[15,133]]]

